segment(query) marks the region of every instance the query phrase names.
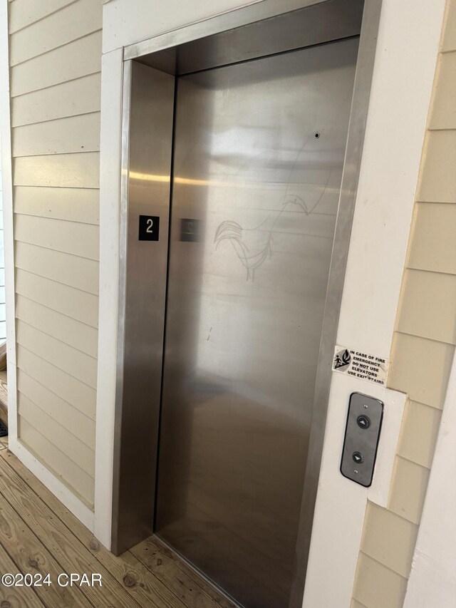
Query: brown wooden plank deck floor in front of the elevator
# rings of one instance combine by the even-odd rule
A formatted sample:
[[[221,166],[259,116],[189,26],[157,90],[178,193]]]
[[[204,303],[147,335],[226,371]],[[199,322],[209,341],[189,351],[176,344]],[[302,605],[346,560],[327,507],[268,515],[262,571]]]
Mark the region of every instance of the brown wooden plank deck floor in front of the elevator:
[[[102,587],[60,587],[58,574],[101,574]],[[93,535],[0,439],[0,574],[50,574],[41,587],[5,587],[1,608],[234,608],[155,537],[120,557]],[[61,577],[61,582],[66,582]]]

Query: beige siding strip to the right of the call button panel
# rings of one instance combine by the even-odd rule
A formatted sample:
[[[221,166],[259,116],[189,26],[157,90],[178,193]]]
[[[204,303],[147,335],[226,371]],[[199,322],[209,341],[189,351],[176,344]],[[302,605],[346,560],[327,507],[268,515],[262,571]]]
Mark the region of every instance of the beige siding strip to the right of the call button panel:
[[[353,608],[401,608],[456,344],[456,0],[449,0],[391,351],[408,393],[388,508],[368,503]]]

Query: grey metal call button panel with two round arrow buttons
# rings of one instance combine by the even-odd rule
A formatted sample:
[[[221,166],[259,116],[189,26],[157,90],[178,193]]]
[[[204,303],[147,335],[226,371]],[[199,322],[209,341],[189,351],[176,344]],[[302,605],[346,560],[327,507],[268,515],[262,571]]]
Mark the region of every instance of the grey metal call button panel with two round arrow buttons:
[[[351,394],[341,473],[366,488],[372,483],[382,419],[382,401],[362,393]]]

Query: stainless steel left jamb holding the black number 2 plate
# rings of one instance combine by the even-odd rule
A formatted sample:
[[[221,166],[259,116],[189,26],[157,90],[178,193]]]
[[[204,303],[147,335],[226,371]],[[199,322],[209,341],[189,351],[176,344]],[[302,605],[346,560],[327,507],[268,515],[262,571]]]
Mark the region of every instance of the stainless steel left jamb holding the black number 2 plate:
[[[131,67],[129,158],[124,158],[122,239],[127,246],[120,276],[117,440],[113,491],[113,551],[129,549],[152,532],[160,413],[165,311],[167,232],[170,200],[174,78],[133,62]],[[125,129],[124,136],[128,137]],[[160,145],[157,145],[159,143]],[[130,172],[127,171],[128,166]],[[167,180],[142,182],[135,176],[153,167]],[[127,177],[128,175],[128,177]],[[138,241],[140,215],[160,216],[160,241]],[[154,264],[150,264],[150,259]],[[122,291],[121,291],[122,293]],[[151,314],[152,313],[152,314]],[[140,421],[140,423],[138,423]],[[103,421],[101,421],[103,423]],[[121,438],[121,439],[120,439]],[[119,456],[119,455],[118,455]]]

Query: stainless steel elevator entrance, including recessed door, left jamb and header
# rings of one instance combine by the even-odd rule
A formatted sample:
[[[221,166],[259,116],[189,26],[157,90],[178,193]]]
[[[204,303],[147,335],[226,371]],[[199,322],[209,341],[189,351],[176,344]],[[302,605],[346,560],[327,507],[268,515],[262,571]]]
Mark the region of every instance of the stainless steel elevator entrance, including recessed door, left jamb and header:
[[[302,601],[362,13],[125,66],[113,547],[155,533],[246,608]]]

